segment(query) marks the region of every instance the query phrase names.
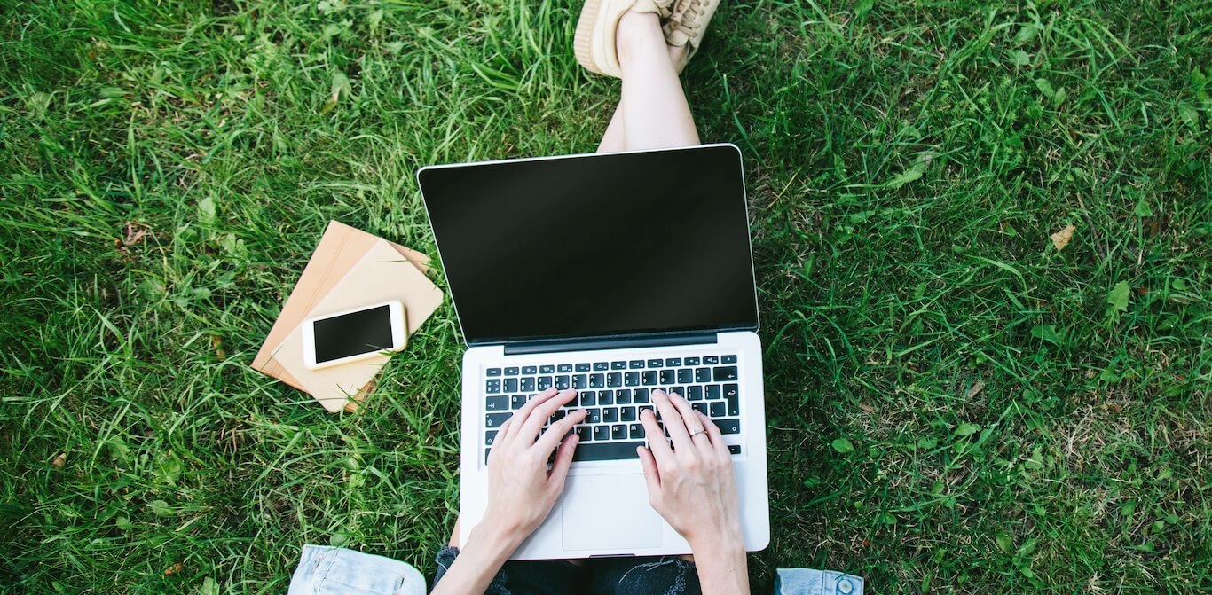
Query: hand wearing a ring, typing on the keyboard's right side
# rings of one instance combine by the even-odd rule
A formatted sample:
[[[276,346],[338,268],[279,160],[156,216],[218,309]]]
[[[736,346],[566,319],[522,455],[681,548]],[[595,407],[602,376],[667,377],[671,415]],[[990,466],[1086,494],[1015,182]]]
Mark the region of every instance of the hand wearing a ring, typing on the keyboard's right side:
[[[732,457],[720,429],[679,394],[652,393],[652,402],[669,429],[669,441],[656,416],[640,414],[648,447],[636,451],[648,484],[652,508],[681,534],[692,550],[702,544],[742,548],[741,504],[732,476]],[[707,431],[702,431],[707,430]],[[691,437],[691,435],[694,437]]]

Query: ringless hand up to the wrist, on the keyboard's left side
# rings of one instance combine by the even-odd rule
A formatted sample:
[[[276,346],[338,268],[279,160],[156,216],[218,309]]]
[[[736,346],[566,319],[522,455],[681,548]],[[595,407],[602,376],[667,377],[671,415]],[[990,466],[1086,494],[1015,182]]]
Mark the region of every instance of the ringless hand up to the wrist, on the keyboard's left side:
[[[576,434],[565,434],[584,420],[587,412],[577,410],[568,413],[547,431],[543,431],[543,424],[576,396],[574,390],[558,393],[554,388],[547,389],[501,425],[488,454],[485,522],[520,540],[533,533],[551,513],[556,498],[564,493],[564,480],[579,439]],[[555,462],[548,469],[551,451],[556,451]]]

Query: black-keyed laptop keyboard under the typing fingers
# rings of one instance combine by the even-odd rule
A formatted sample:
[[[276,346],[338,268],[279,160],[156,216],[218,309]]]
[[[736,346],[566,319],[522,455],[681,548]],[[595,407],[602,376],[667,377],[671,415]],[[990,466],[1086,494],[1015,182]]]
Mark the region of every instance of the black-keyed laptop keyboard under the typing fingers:
[[[691,407],[702,411],[720,428],[721,434],[741,431],[736,355],[488,367],[484,402],[485,460],[498,428],[526,401],[551,387],[574,389],[577,397],[556,411],[544,429],[578,408],[589,413],[573,430],[581,436],[573,460],[636,458],[635,447],[645,444],[640,412],[653,410],[661,419],[651,400],[656,389],[685,396]],[[741,446],[728,445],[728,451],[739,454]]]

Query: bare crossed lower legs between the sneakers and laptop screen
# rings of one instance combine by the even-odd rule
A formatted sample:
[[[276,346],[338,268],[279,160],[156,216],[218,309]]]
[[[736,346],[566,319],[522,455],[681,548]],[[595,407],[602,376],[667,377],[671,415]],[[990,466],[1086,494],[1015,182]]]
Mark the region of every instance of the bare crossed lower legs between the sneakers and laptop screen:
[[[684,46],[665,45],[656,15],[623,15],[618,23],[623,97],[598,145],[599,153],[699,144],[690,104],[674,69],[685,51]]]

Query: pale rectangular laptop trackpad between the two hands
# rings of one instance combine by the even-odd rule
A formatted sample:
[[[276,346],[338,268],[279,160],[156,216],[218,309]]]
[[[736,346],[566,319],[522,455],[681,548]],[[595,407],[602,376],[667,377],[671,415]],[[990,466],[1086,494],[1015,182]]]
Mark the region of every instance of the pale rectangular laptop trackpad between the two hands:
[[[564,488],[564,549],[661,545],[664,520],[648,504],[644,475],[574,475]]]

